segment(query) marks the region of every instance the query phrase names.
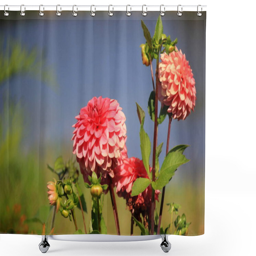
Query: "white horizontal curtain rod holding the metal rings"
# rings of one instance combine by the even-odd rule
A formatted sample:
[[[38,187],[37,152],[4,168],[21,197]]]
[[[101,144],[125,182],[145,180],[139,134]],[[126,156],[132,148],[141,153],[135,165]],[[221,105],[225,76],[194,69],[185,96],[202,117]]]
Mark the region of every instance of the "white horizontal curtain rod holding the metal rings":
[[[40,11],[142,11],[151,12],[151,11],[177,11],[179,9],[180,12],[205,12],[206,5],[41,5]],[[39,11],[39,5],[5,5],[5,11],[20,11],[22,9],[23,12],[25,11]],[[4,5],[0,5],[0,10],[4,11]]]

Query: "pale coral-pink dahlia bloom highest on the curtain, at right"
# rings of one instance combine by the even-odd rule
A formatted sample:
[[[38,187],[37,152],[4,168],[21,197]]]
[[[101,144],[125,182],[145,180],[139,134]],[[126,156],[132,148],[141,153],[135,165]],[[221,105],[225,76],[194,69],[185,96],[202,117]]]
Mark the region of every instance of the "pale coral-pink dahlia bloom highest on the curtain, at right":
[[[176,48],[177,49],[177,48]],[[196,104],[195,79],[185,54],[171,52],[161,54],[159,63],[158,97],[162,104],[169,106],[168,112],[178,120],[184,120],[194,111]]]

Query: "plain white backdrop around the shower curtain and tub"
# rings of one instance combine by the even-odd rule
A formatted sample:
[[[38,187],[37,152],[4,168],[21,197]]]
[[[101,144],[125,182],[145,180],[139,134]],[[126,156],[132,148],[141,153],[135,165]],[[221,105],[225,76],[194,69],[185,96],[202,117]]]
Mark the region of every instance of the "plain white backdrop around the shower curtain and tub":
[[[6,0],[7,1],[7,0]],[[227,1],[228,2],[228,1]],[[255,20],[252,1],[8,0],[8,5],[207,5],[205,234],[170,236],[170,255],[255,255]],[[0,237],[0,254],[38,255],[40,238]],[[162,255],[160,240],[83,243],[50,240],[50,255]]]

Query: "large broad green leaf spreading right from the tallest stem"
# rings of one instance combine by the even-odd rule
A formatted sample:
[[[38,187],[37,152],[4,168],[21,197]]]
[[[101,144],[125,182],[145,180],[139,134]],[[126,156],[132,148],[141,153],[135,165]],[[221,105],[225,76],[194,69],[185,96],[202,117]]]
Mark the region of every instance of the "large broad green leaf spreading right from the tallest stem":
[[[152,186],[155,190],[160,190],[167,185],[177,168],[189,161],[186,156],[182,154],[187,147],[188,145],[179,145],[168,152],[167,156],[164,158],[157,180],[152,182]]]

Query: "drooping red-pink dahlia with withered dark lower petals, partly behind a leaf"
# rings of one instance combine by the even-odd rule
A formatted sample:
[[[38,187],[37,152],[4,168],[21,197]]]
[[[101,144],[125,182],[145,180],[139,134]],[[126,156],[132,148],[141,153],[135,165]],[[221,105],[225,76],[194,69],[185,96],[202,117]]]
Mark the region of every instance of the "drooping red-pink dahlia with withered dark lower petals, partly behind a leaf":
[[[152,168],[150,168],[151,172]],[[150,218],[150,202],[152,188],[148,186],[138,196],[131,196],[133,182],[137,178],[148,178],[147,171],[142,160],[136,157],[124,158],[123,164],[115,169],[116,193],[126,199],[127,208],[133,212],[137,220],[141,220],[140,213],[145,218]],[[155,199],[158,201],[159,190],[155,191]]]

